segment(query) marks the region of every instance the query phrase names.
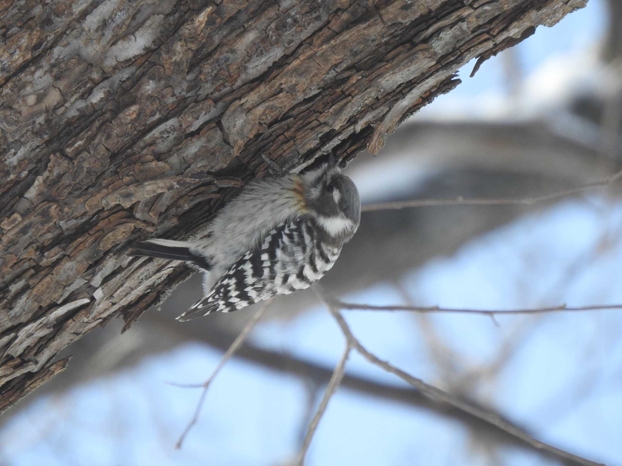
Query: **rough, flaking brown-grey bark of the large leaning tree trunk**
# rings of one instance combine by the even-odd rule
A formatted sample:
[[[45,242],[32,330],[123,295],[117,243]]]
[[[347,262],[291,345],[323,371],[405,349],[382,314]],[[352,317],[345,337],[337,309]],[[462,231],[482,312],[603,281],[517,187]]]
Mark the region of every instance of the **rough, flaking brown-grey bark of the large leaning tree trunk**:
[[[187,278],[129,240],[200,234],[261,153],[377,153],[468,60],[586,2],[0,0],[0,409]]]

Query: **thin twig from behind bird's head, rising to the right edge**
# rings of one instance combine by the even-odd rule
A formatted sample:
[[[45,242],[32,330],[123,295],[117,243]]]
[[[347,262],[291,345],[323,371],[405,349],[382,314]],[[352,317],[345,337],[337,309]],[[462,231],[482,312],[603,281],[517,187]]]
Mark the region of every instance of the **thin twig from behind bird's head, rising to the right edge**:
[[[593,181],[592,183],[586,183],[585,185],[576,186],[575,188],[569,188],[567,190],[555,191],[554,193],[544,194],[542,196],[535,196],[532,198],[475,198],[468,199],[458,196],[456,198],[447,199],[415,199],[412,201],[396,201],[388,203],[374,203],[366,204],[361,207],[362,212],[371,211],[383,211],[383,210],[396,210],[409,207],[427,207],[427,206],[496,206],[496,205],[508,205],[508,204],[523,204],[530,206],[531,204],[540,203],[542,201],[549,201],[550,199],[563,198],[570,194],[577,194],[582,191],[592,190],[593,188],[604,188],[611,185],[615,181],[622,178],[622,170],[616,171],[613,175],[607,176],[599,181]]]

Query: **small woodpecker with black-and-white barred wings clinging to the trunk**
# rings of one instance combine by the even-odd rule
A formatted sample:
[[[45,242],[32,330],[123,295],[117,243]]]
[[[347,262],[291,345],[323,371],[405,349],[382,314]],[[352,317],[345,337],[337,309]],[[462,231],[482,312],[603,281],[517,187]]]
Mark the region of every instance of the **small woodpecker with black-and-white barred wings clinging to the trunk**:
[[[228,313],[304,290],[333,267],[358,229],[361,201],[333,158],[302,175],[249,183],[201,239],[135,242],[128,255],[183,260],[203,275],[203,297],[179,321]]]

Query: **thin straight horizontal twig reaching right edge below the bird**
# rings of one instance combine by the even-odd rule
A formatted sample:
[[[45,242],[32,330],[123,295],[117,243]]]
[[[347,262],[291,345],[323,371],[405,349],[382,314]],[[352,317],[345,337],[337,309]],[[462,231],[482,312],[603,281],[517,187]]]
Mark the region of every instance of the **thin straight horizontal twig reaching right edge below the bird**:
[[[545,314],[545,313],[558,313],[558,312],[588,312],[598,311],[602,309],[622,309],[622,304],[593,304],[591,306],[567,306],[566,304],[560,304],[559,306],[551,306],[549,308],[536,308],[536,309],[457,309],[457,308],[441,308],[440,306],[371,306],[369,304],[358,303],[344,303],[338,299],[323,298],[336,308],[343,309],[345,311],[413,311],[416,313],[450,313],[450,314],[478,314],[481,316],[501,316],[503,314],[515,315],[515,314]]]

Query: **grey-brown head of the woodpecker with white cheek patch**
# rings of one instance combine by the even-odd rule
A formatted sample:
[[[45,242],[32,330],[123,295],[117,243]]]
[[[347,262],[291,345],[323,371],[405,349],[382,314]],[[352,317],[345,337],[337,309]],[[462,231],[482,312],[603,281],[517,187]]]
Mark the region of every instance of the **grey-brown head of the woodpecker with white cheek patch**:
[[[350,239],[361,221],[361,199],[350,177],[331,160],[302,178],[310,215],[333,238]]]

